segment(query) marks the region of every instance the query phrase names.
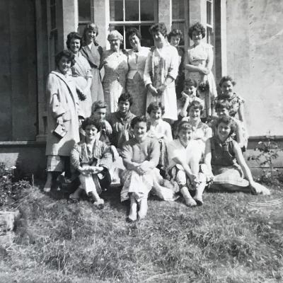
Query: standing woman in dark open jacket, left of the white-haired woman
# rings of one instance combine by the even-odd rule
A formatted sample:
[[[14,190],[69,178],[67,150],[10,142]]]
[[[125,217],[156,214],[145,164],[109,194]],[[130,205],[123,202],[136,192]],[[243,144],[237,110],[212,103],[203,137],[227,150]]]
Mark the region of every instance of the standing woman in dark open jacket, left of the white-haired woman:
[[[91,65],[92,83],[91,83],[91,103],[97,100],[104,101],[103,88],[100,77],[102,47],[96,42],[98,36],[98,26],[95,23],[88,23],[83,30],[83,54]]]

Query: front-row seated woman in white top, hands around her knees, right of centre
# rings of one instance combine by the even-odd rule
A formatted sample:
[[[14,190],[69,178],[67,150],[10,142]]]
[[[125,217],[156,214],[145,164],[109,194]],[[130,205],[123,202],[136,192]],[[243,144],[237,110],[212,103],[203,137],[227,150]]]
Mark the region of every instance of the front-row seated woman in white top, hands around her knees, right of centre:
[[[168,144],[168,175],[178,184],[188,207],[203,204],[202,193],[207,185],[206,176],[200,173],[202,148],[192,139],[192,134],[192,125],[182,121],[178,126],[178,139]],[[189,190],[195,190],[193,198]]]

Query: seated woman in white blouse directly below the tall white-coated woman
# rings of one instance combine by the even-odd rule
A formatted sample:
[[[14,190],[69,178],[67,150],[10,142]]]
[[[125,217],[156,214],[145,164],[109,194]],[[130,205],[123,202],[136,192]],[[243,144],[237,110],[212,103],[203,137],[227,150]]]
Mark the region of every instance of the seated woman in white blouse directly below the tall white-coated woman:
[[[158,139],[160,144],[158,168],[161,170],[161,175],[163,175],[162,173],[165,173],[166,166],[168,166],[167,144],[173,140],[171,125],[162,120],[165,111],[161,103],[150,103],[146,112],[149,114],[149,131],[147,135]]]

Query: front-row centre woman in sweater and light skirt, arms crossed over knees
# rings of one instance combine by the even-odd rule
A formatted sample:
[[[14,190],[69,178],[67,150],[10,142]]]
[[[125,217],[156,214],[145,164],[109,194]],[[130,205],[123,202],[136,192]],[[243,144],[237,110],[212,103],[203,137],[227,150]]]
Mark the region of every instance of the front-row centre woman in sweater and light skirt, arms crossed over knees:
[[[145,116],[134,117],[131,122],[134,137],[122,146],[121,151],[126,167],[122,175],[121,201],[130,199],[129,221],[137,220],[137,204],[139,219],[146,216],[147,197],[154,185],[154,168],[159,160],[158,140],[147,137],[146,124]]]

